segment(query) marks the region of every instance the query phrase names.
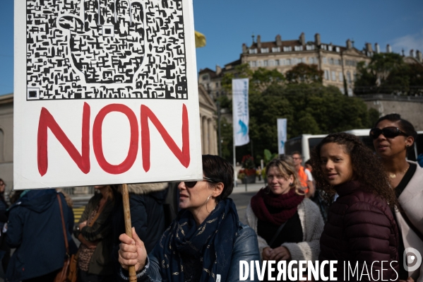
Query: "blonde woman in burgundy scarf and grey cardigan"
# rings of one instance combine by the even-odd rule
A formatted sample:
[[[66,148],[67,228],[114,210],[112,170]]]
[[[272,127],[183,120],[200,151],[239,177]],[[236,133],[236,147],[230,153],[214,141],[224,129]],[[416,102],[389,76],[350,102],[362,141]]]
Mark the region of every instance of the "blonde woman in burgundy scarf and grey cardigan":
[[[247,224],[258,237],[263,260],[316,260],[323,219],[318,206],[304,198],[291,158],[266,166],[268,185],[251,198]]]

